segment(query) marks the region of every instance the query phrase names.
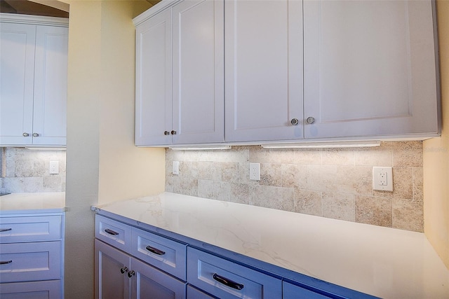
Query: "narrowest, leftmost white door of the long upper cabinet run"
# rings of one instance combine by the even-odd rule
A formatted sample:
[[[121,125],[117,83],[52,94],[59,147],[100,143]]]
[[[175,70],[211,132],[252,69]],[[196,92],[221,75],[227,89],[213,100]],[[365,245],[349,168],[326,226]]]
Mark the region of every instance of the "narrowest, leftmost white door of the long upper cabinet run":
[[[171,8],[136,27],[135,50],[135,145],[171,144]]]

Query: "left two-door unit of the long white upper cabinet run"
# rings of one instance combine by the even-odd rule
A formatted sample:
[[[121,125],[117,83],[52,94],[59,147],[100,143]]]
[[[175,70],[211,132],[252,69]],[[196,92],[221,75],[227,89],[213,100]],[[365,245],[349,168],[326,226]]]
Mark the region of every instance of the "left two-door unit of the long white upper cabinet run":
[[[224,141],[223,1],[165,3],[134,20],[135,144]]]

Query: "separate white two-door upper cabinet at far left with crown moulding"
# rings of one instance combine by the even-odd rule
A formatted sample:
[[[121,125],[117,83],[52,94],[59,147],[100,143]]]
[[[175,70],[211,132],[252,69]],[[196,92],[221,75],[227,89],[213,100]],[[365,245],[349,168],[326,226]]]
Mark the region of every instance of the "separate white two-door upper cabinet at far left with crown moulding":
[[[65,145],[68,20],[0,16],[0,145]]]

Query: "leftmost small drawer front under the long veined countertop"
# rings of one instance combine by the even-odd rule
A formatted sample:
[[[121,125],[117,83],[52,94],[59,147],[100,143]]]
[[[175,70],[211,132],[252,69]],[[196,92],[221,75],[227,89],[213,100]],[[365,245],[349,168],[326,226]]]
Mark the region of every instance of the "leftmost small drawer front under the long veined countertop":
[[[100,215],[95,216],[95,237],[129,253],[131,227]]]

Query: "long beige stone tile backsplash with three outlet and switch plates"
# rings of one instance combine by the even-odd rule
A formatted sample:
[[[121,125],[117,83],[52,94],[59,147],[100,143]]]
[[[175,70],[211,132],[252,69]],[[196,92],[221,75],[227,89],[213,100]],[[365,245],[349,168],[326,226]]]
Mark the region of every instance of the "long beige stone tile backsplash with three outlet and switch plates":
[[[172,174],[173,161],[180,174]],[[250,181],[249,163],[260,163]],[[393,191],[372,188],[373,166],[393,167]],[[166,149],[166,191],[390,228],[424,230],[422,141],[375,148],[229,151]]]

